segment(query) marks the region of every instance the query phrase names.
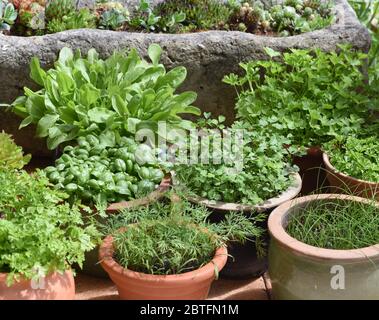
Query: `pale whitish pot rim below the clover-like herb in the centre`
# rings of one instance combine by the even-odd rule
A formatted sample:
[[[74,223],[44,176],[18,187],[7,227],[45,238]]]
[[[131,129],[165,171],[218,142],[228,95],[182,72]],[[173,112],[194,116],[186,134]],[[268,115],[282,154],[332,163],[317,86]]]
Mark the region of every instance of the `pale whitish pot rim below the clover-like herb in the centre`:
[[[175,181],[174,174],[173,176],[173,185],[178,185],[178,181]],[[242,211],[242,212],[264,212],[275,208],[282,203],[295,198],[301,191],[302,188],[302,179],[299,173],[292,173],[290,176],[294,178],[293,184],[277,197],[268,199],[259,205],[248,205],[248,204],[238,204],[238,203],[228,203],[222,201],[214,201],[202,198],[200,196],[190,196],[188,200],[197,204],[205,205],[211,209],[217,209],[222,211]]]

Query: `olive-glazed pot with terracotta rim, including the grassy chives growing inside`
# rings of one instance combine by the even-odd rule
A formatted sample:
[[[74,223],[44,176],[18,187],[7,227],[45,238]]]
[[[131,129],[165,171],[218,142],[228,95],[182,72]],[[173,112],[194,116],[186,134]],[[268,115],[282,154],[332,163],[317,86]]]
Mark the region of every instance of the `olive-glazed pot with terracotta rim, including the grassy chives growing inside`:
[[[377,299],[379,203],[322,194],[288,201],[269,218],[274,299]]]

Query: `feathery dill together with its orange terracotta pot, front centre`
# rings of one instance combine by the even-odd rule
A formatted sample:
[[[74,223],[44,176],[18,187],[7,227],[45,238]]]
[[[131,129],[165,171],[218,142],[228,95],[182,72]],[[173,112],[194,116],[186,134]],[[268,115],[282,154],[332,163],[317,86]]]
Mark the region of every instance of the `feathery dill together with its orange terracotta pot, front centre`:
[[[99,259],[121,299],[205,299],[228,253],[226,242],[261,230],[231,213],[221,224],[189,202],[157,202],[108,220]],[[252,239],[255,240],[255,239]]]

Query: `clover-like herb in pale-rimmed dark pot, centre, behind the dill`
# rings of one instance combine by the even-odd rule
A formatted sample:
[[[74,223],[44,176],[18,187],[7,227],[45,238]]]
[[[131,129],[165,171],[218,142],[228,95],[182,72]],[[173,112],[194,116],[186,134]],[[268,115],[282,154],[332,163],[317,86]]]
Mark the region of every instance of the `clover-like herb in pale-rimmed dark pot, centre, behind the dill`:
[[[215,128],[226,129],[223,119],[219,120],[221,123],[206,115],[205,123],[200,124],[202,131],[214,137]],[[210,149],[208,161],[174,165],[174,186],[190,201],[212,210],[212,221],[222,221],[227,212],[249,216],[256,212],[268,213],[296,197],[301,189],[301,178],[297,168],[290,165],[288,149],[283,148],[287,140],[249,131],[249,126],[241,122],[230,129],[232,136],[243,133],[242,140],[233,140],[229,146],[223,146],[230,154],[219,158],[218,152],[223,151],[218,149],[215,139],[211,139],[213,149]],[[201,149],[202,141],[197,143]],[[265,218],[260,226],[267,229]],[[231,242],[228,248],[233,258],[229,259],[223,276],[247,278],[265,272],[267,261],[252,243]]]

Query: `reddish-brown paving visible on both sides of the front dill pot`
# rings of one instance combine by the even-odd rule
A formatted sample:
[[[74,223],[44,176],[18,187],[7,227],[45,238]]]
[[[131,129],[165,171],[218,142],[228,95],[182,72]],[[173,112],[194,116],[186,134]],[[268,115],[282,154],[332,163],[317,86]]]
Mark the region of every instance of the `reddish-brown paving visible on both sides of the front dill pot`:
[[[78,273],[76,276],[77,300],[118,300],[117,289],[108,279]],[[263,277],[252,280],[224,280],[213,283],[210,300],[268,300]]]

